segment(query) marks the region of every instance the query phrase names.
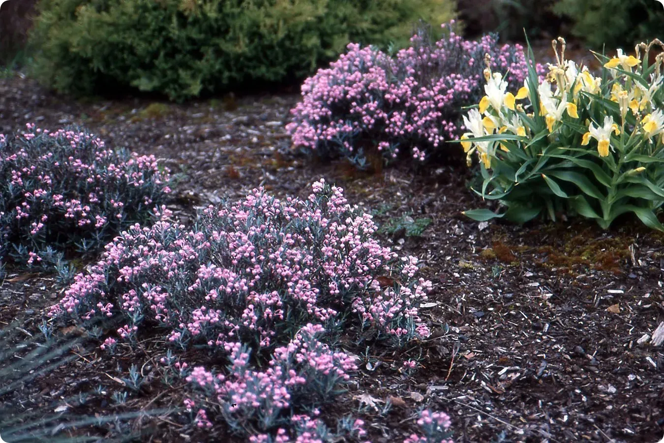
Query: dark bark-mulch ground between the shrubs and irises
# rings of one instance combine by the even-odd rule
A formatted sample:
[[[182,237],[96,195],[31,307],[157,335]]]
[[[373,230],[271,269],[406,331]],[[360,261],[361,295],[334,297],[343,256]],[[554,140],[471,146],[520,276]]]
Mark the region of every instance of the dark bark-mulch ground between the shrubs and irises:
[[[471,176],[465,167],[432,167],[418,175],[394,167],[371,174],[355,173],[343,161],[309,163],[291,153],[284,132],[297,99],[84,103],[13,76],[0,80],[0,132],[22,130],[26,122],[50,130],[83,124],[108,145],[154,153],[175,173],[184,173],[171,209],[185,223],[195,209],[244,197],[260,184],[278,197],[306,197],[321,177],[343,187],[349,203],[373,211],[378,224],[390,227],[379,234],[385,244],[426,263],[422,274],[434,282],[430,301],[436,302],[423,310],[434,331],[427,341],[396,355],[378,349],[367,356],[365,349],[349,345],[361,356],[361,370],[323,417],[353,413],[367,422],[373,442],[402,441],[416,430],[416,412],[425,404],[450,414],[456,442],[661,438],[664,351],[639,339],[664,321],[663,234],[635,219],[609,231],[576,220],[478,224],[461,215],[485,205],[466,188]],[[422,232],[405,228],[425,218],[431,222]],[[42,311],[62,290],[53,276],[9,271],[0,287],[0,323],[14,324],[10,341],[19,343],[39,333]],[[78,335],[74,328],[59,333]],[[163,385],[156,362],[165,349],[160,340],[158,331],[143,335],[140,351],[121,345],[113,358],[98,341],[84,341],[67,351],[72,361],[0,397],[0,406],[56,412],[62,422],[76,414],[180,407],[185,383]],[[420,354],[415,373],[398,371],[398,363]],[[184,360],[207,358],[189,351]],[[132,363],[150,382],[118,405],[112,393],[127,391],[121,379]],[[98,385],[104,393],[91,395],[82,406],[66,400]],[[389,400],[392,408],[380,416],[371,399],[377,408]],[[63,405],[68,406],[55,409]],[[146,430],[140,441],[236,441],[222,426],[194,429],[183,413],[129,420],[125,426],[111,422],[66,432],[110,437]]]

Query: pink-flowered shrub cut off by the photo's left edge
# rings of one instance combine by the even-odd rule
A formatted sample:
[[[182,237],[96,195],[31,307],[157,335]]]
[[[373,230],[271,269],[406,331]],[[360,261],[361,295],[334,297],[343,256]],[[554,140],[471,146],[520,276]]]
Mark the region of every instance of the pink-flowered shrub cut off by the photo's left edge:
[[[153,156],[74,129],[0,135],[0,261],[44,268],[148,221],[170,192]]]

